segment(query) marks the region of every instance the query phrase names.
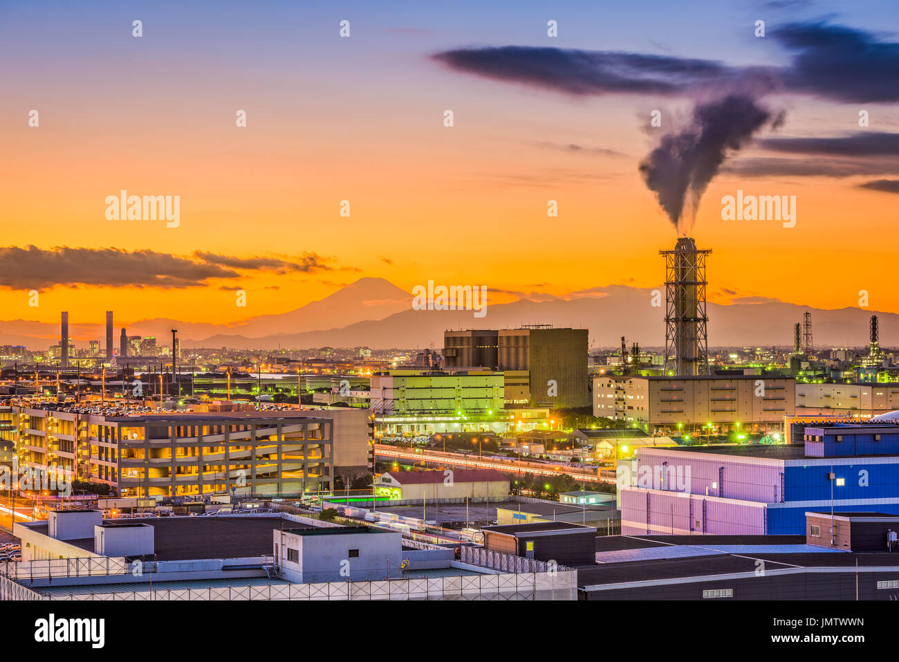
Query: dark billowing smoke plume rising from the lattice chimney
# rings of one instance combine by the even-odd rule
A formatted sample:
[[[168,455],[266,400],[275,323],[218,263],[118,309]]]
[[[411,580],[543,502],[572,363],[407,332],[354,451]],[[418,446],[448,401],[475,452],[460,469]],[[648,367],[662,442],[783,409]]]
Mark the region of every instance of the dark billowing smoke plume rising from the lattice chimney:
[[[640,163],[646,186],[674,228],[686,232],[696,215],[699,198],[717,174],[727,150],[737,151],[765,124],[777,128],[776,115],[746,94],[727,94],[693,108],[689,124],[665,134]]]

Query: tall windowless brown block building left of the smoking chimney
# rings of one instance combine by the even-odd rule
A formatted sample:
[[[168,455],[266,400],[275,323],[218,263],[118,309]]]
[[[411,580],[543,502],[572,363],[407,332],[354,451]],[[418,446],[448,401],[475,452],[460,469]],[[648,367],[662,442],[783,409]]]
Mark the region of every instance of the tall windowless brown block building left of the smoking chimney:
[[[507,407],[588,407],[587,329],[530,325],[445,331],[449,368],[503,371]]]

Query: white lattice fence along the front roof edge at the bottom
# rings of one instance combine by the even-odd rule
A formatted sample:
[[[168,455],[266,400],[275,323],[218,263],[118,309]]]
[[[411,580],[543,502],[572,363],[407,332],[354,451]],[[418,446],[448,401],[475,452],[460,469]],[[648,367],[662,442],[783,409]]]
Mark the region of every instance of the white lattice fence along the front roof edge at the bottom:
[[[102,589],[98,586],[98,589]],[[26,589],[27,590],[27,589]],[[574,571],[457,577],[419,577],[323,584],[269,584],[217,588],[135,591],[98,590],[89,594],[41,596],[53,600],[574,600]]]

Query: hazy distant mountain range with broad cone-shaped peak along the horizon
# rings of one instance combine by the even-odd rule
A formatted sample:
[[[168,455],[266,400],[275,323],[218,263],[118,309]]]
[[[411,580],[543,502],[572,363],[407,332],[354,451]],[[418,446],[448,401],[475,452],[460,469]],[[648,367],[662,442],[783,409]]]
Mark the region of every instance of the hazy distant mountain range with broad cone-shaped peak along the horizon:
[[[507,328],[554,324],[590,329],[594,347],[616,347],[621,336],[644,347],[664,344],[664,309],[650,305],[646,291],[615,288],[606,296],[570,300],[489,303],[486,316],[464,310],[414,310],[412,296],[383,278],[362,278],[325,299],[280,315],[250,318],[236,325],[195,324],[154,318],[129,325],[129,335],[156,335],[161,342],[179,329],[182,346],[276,349],[369,346],[373,349],[441,347],[447,328]],[[865,309],[812,309],[791,303],[708,304],[710,346],[792,344],[793,325],[812,312],[814,343],[868,344],[868,319],[880,318],[880,344],[899,346],[899,315]],[[0,322],[0,343],[45,349],[58,339],[58,325],[14,320]],[[102,325],[73,326],[74,338],[102,338]],[[82,340],[82,342],[84,342]],[[116,327],[118,343],[118,327]]]

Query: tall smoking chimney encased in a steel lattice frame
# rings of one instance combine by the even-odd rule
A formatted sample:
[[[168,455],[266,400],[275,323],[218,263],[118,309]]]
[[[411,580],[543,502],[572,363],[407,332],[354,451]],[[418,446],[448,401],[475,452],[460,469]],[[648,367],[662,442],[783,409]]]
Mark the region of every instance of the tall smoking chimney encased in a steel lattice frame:
[[[680,237],[665,257],[665,374],[708,374],[706,255],[691,237]]]

